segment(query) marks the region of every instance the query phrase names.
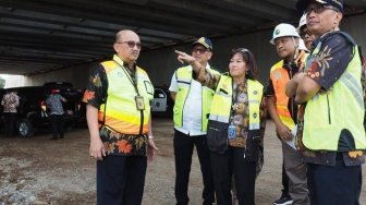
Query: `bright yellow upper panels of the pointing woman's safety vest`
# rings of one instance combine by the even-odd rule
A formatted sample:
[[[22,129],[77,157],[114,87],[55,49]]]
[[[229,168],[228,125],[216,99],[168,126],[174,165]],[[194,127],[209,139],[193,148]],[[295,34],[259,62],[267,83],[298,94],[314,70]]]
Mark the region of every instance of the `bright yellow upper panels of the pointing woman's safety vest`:
[[[209,116],[210,120],[229,123],[232,95],[232,79],[230,76],[221,75],[212,100]],[[263,97],[263,85],[258,81],[247,80],[247,95],[249,102],[249,130],[259,130],[259,108]]]

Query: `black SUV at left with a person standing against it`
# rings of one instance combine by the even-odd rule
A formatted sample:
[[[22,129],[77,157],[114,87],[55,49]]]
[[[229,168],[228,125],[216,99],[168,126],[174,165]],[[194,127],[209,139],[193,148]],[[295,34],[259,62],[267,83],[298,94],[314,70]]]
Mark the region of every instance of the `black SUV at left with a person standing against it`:
[[[44,86],[16,87],[20,96],[16,132],[20,136],[33,136],[38,129],[51,128],[46,99],[54,88],[68,100],[62,104],[65,126],[73,126],[78,120],[82,92],[73,88],[71,84],[48,83]]]

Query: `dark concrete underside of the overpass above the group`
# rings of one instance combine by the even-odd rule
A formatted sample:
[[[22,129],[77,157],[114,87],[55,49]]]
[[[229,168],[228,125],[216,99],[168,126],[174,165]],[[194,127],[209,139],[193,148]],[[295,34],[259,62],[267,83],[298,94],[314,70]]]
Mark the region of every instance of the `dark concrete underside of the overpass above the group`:
[[[84,87],[88,72],[113,53],[114,34],[142,38],[138,64],[155,85],[180,67],[174,49],[190,51],[199,36],[213,41],[211,64],[225,71],[230,50],[249,48],[268,79],[277,60],[268,41],[279,23],[297,25],[296,0],[0,0],[0,73],[25,75],[26,85],[69,81]],[[366,48],[366,0],[345,0],[342,29]]]

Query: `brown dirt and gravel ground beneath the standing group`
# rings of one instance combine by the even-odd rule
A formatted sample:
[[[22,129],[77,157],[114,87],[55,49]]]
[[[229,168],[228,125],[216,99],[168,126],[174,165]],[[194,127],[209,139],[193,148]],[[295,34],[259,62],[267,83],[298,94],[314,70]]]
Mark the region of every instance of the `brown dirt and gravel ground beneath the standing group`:
[[[159,147],[148,165],[144,205],[172,205],[174,201],[173,123],[155,119],[152,129]],[[256,182],[256,204],[272,204],[281,190],[281,149],[271,121],[267,123],[265,166]],[[88,156],[86,128],[73,129],[65,138],[50,141],[51,133],[30,138],[0,137],[0,205],[95,204],[95,161]],[[363,167],[365,174],[365,167]],[[363,180],[365,184],[365,179]],[[202,204],[202,178],[194,154],[191,205]],[[361,204],[366,204],[365,185]]]

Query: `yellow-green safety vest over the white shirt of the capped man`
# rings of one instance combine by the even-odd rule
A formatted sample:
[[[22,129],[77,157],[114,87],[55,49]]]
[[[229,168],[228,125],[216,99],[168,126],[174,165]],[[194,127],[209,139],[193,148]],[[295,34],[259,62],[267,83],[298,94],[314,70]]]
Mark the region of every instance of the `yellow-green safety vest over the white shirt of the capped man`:
[[[183,108],[185,100],[187,99],[190,89],[191,89],[191,82],[192,82],[192,68],[191,67],[182,67],[176,70],[176,84],[178,84],[178,92],[175,94],[174,100],[174,124],[176,126],[183,126]],[[218,73],[217,71],[210,70],[210,72]],[[208,119],[207,116],[209,113],[211,107],[211,100],[213,97],[213,91],[209,87],[202,86],[202,131],[207,131],[207,123]]]

